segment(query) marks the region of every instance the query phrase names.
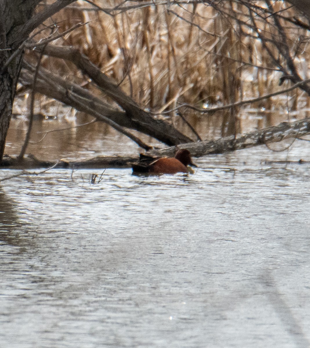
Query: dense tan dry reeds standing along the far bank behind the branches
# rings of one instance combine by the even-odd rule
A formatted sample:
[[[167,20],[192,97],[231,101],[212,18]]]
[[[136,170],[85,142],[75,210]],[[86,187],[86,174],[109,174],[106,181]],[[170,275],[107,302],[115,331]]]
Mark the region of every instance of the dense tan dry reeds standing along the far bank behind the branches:
[[[122,2],[97,0],[95,3],[112,9]],[[128,6],[135,4],[130,2]],[[163,4],[118,11],[118,14],[114,11],[112,16],[100,10],[87,11],[85,7],[90,5],[78,1],[54,16],[53,21],[59,32],[77,23],[87,24],[53,44],[81,47],[127,94],[153,111],[169,110],[178,103],[198,107],[228,104],[291,84],[285,81],[279,87],[283,73],[277,70],[267,49],[281,63],[286,63],[275,45],[268,42],[266,48],[261,40],[252,37],[253,27],[257,26],[266,38],[282,40],[277,37],[274,22],[262,11],[260,18],[260,10],[256,17],[249,17],[248,9],[240,3],[220,2],[216,6],[180,2],[170,3],[169,7]],[[276,1],[274,9],[282,11],[284,17],[296,16],[282,1]],[[292,23],[288,27],[287,21],[279,20],[285,28],[296,69],[306,78],[309,31]],[[51,23],[50,20],[47,24]],[[47,32],[40,35],[43,37]],[[43,59],[43,64],[92,88],[71,64],[49,57]],[[294,90],[251,107],[286,110],[289,114],[308,104],[309,97],[302,90]],[[240,132],[238,114],[237,108],[221,113],[223,135]]]

